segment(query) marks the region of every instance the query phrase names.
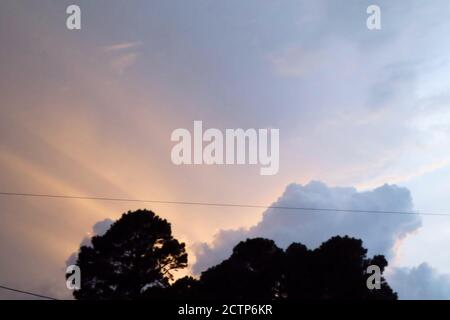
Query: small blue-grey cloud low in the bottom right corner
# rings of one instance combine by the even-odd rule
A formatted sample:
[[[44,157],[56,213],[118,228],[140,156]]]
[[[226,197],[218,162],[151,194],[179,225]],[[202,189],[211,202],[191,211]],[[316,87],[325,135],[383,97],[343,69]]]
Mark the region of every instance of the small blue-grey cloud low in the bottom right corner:
[[[386,278],[404,300],[450,299],[450,275],[438,273],[427,263],[413,268],[394,268]]]

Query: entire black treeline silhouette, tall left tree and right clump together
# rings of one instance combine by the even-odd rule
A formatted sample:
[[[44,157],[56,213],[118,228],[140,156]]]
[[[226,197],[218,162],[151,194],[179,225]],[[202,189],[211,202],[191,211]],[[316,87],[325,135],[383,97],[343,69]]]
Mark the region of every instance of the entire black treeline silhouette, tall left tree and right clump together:
[[[199,279],[173,282],[173,271],[187,266],[185,244],[148,210],[123,214],[103,236],[93,237],[92,246],[80,248],[77,265],[76,299],[397,299],[384,278],[380,289],[367,286],[367,268],[376,265],[382,273],[384,256],[368,258],[362,241],[347,236],[314,250],[247,239]]]

